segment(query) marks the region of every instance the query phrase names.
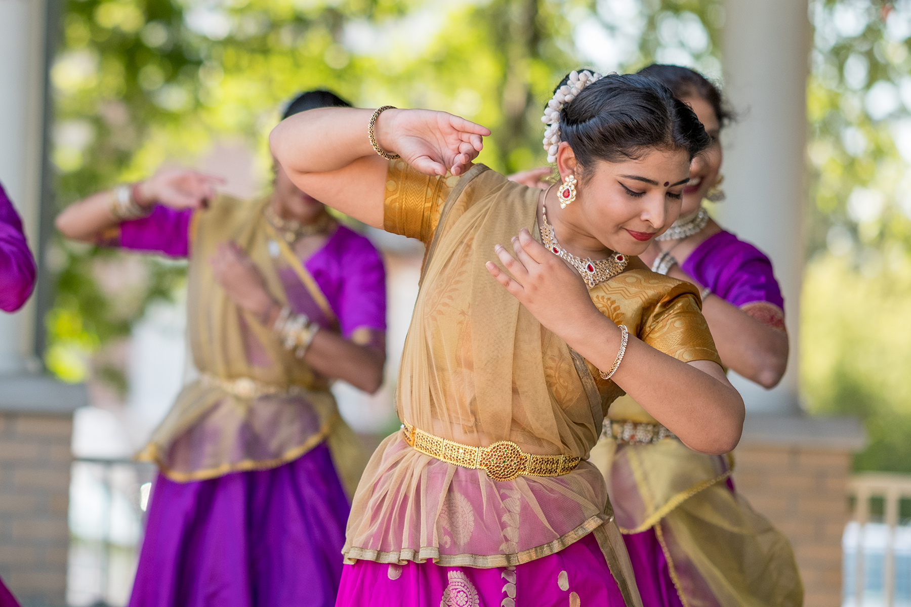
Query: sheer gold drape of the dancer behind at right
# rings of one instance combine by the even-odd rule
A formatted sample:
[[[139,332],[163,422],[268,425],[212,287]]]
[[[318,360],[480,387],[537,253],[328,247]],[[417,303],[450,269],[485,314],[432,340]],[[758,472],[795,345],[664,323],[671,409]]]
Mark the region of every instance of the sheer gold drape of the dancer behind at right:
[[[612,420],[657,423],[624,396]],[[733,456],[705,455],[680,440],[617,444],[591,452],[608,481],[623,533],[654,529],[684,607],[800,607],[804,589],[791,545],[733,493]]]

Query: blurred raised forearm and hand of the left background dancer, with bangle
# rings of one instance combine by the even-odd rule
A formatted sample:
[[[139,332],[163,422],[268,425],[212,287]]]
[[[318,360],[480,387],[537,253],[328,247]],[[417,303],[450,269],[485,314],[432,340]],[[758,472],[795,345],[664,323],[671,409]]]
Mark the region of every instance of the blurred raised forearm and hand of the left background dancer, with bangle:
[[[156,203],[174,208],[205,207],[221,181],[197,171],[169,169],[140,181],[133,189],[134,199],[146,208]],[[73,240],[96,241],[101,232],[120,223],[111,213],[113,196],[111,190],[105,190],[73,203],[57,216],[56,228]]]

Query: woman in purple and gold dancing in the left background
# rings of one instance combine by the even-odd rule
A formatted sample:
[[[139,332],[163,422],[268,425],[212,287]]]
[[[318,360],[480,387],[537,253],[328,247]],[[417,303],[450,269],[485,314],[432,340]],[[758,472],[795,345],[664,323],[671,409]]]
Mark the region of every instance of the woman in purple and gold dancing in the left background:
[[[286,116],[322,106],[347,104],[315,91]],[[57,218],[69,238],[189,257],[200,379],[140,453],[160,473],[129,604],[333,605],[343,483],[353,490],[363,458],[329,382],[380,386],[383,263],[278,165],[260,201],[213,182],[167,171]]]

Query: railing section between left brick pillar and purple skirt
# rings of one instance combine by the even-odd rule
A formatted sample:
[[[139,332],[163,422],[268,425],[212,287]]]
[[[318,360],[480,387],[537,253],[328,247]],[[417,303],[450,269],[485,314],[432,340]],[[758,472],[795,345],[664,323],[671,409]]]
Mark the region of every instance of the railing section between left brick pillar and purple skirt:
[[[70,481],[67,604],[121,607],[136,573],[154,466],[78,458]]]

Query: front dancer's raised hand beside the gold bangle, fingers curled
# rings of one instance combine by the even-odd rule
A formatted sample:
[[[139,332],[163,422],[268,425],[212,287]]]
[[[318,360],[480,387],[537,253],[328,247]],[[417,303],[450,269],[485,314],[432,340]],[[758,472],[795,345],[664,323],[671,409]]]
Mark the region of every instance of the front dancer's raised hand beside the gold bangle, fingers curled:
[[[490,131],[446,112],[387,109],[376,120],[374,134],[380,147],[426,175],[445,175],[447,170],[462,175]]]

